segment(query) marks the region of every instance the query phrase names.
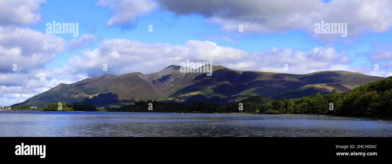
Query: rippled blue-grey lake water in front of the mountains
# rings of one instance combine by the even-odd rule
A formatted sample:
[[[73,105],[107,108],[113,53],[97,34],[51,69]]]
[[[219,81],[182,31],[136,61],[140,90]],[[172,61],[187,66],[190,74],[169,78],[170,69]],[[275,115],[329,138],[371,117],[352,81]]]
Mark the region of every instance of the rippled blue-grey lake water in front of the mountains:
[[[0,136],[392,136],[369,118],[136,112],[0,111]]]

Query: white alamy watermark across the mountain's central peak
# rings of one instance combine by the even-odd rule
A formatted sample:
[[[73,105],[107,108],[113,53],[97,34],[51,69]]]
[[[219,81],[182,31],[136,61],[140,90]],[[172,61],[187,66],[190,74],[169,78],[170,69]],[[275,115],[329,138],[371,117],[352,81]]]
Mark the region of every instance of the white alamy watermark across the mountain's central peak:
[[[189,62],[187,59],[187,63],[180,63],[180,72],[181,73],[207,73],[207,76],[212,75],[212,62]],[[196,69],[197,68],[197,69]]]

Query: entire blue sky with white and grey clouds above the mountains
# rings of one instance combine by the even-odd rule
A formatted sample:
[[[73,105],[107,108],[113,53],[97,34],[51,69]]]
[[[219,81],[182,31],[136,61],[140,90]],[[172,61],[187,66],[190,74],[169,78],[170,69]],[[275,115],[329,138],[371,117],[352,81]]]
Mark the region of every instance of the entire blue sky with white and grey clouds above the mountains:
[[[389,0],[2,0],[0,106],[60,83],[149,74],[187,59],[236,70],[388,77],[391,9]],[[78,23],[78,36],[48,33],[53,21]],[[315,32],[322,21],[343,23],[347,36]]]

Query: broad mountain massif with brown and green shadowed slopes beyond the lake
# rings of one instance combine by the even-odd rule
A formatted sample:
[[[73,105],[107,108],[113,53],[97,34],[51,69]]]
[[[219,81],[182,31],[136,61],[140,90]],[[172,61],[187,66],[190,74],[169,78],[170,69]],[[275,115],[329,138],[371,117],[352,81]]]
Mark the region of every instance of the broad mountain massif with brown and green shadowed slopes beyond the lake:
[[[383,78],[348,71],[300,75],[242,71],[220,65],[213,66],[212,76],[207,76],[207,73],[181,73],[180,68],[171,65],[152,74],[105,74],[73,84],[62,83],[15,105],[38,106],[61,101],[120,106],[147,99],[185,104],[197,101],[227,104],[250,96],[281,99],[310,96],[317,92],[325,94],[334,87],[338,88],[338,92],[345,92]]]

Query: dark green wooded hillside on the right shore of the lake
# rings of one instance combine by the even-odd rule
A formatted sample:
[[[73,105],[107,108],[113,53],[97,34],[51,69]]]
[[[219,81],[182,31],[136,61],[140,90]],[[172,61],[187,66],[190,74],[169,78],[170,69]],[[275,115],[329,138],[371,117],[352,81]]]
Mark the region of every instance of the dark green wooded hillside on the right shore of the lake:
[[[270,108],[263,106],[263,110],[266,114],[392,117],[392,77],[368,83],[345,93],[337,93],[337,90],[334,90],[325,95],[318,93],[301,99],[281,99],[272,103]],[[330,103],[333,103],[334,110],[329,110]]]

